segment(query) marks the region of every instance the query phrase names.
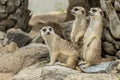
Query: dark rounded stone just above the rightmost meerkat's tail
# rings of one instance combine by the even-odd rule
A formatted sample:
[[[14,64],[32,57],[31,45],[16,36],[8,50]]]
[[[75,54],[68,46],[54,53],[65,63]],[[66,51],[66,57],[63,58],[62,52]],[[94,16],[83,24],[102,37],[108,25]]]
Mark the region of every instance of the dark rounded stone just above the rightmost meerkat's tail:
[[[116,49],[113,44],[109,42],[103,42],[103,49],[107,54],[115,55]]]

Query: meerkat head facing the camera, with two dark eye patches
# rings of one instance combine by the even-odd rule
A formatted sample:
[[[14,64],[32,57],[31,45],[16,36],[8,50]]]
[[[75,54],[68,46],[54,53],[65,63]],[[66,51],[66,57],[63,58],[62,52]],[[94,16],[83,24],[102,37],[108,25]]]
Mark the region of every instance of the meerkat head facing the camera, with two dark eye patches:
[[[40,30],[41,35],[48,36],[54,34],[54,29],[50,26],[45,26]]]

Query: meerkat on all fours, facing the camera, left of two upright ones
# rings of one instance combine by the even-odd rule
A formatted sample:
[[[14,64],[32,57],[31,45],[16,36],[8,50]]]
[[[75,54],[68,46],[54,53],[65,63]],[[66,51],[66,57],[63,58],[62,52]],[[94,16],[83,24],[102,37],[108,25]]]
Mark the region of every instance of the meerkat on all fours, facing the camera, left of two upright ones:
[[[48,65],[53,65],[58,60],[62,66],[80,70],[77,66],[79,53],[72,47],[72,44],[59,37],[51,26],[43,27],[40,34],[50,52],[50,63]]]

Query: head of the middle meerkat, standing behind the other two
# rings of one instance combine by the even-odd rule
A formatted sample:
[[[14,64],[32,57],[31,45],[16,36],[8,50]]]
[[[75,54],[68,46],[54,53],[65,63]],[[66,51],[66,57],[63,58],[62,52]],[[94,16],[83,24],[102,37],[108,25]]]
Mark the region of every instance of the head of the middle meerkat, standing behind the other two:
[[[73,7],[71,14],[74,16],[86,15],[85,9],[83,7]]]

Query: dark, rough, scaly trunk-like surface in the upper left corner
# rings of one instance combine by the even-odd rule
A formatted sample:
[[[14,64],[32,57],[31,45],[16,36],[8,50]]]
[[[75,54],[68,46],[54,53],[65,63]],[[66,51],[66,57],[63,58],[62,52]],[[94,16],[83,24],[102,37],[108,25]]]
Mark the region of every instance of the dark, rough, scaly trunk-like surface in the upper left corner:
[[[28,0],[0,0],[0,31],[6,32],[8,29],[14,28],[19,20],[27,14],[24,13],[25,11],[29,11]],[[26,17],[28,16],[29,14],[26,15]],[[23,21],[24,25],[28,24],[25,20]]]

